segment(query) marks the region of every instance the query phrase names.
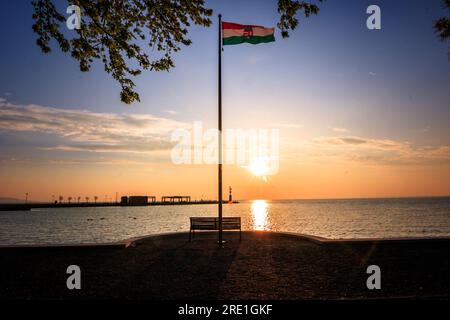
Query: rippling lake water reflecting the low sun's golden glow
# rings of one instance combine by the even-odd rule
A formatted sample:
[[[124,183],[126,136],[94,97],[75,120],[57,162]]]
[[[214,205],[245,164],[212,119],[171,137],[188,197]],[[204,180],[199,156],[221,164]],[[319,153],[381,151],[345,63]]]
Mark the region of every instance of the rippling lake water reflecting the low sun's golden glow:
[[[217,205],[52,208],[0,212],[0,245],[99,243],[188,231],[189,217]],[[331,239],[450,236],[450,198],[254,200],[224,205],[244,230]]]

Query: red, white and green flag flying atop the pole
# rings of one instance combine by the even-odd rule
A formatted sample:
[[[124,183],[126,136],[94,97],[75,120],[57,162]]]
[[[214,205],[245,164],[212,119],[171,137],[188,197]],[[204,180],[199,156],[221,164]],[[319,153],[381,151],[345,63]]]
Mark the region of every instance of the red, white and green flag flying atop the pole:
[[[222,22],[223,45],[240,43],[265,43],[275,41],[275,28],[261,26],[243,25],[231,22]]]

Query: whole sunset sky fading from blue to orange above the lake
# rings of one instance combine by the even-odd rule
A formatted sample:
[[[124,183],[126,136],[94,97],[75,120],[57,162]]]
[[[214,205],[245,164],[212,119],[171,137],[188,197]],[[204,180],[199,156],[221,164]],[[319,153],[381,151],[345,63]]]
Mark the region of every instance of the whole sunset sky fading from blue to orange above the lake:
[[[450,195],[450,63],[432,28],[441,1],[379,2],[381,30],[367,29],[364,1],[327,1],[288,39],[276,30],[275,42],[225,48],[224,128],[278,129],[279,170],[225,165],[224,197],[230,185],[235,199]],[[226,21],[279,19],[276,1],[207,4]],[[100,64],[81,73],[57,48],[39,51],[28,2],[7,6],[0,197],[217,198],[216,165],[171,158],[174,130],[217,124],[215,16],[190,29],[173,70],[136,78],[141,102],[127,106]]]

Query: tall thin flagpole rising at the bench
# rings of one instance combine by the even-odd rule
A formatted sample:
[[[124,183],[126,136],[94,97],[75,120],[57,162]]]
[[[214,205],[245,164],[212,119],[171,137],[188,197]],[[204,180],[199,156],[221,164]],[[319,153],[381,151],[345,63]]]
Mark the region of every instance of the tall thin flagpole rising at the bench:
[[[218,215],[219,215],[219,247],[223,246],[222,240],[222,15],[219,14],[219,94],[218,94],[218,129],[219,129],[219,162],[218,162],[218,182],[219,182],[219,201],[218,201]]]

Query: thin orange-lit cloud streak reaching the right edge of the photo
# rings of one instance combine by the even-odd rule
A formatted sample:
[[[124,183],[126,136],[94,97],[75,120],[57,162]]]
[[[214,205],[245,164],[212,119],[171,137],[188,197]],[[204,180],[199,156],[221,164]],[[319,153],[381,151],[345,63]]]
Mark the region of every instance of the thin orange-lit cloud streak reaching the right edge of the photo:
[[[346,159],[378,165],[450,164],[450,146],[420,146],[390,139],[356,136],[323,137],[313,140],[316,155],[343,156]]]

